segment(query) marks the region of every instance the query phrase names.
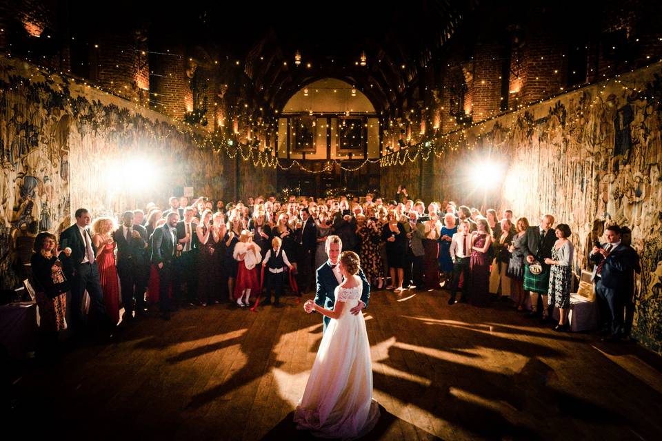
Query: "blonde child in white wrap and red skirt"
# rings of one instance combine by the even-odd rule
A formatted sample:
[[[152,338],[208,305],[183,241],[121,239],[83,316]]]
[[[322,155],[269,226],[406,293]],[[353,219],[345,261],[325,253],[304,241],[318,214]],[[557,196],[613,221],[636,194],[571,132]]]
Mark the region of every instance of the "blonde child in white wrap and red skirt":
[[[253,242],[253,235],[244,229],[239,236],[239,242],[234,245],[232,257],[237,260],[237,284],[234,286],[234,298],[241,307],[250,305],[250,293],[259,296],[260,283],[257,280],[256,265],[262,260],[260,247]],[[243,298],[245,296],[245,301]]]

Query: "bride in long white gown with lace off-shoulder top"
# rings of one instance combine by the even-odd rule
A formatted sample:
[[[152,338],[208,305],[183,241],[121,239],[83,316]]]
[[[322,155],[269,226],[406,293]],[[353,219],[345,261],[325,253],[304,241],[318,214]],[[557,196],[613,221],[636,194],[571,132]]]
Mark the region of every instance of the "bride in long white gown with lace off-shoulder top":
[[[363,290],[359,256],[344,252],[339,258],[344,280],[336,288],[332,311],[308,300],[311,309],[332,318],[317,351],[303,397],[294,413],[297,429],[321,438],[359,438],[379,420],[372,399],[370,344],[363,314],[352,315]],[[312,305],[311,305],[312,303]]]

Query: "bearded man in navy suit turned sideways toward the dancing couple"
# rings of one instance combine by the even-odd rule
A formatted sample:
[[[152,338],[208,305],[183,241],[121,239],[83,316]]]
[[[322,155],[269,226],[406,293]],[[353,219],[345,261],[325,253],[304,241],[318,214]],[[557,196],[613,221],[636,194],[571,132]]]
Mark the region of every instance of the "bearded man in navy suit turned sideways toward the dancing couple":
[[[164,320],[170,320],[170,290],[172,298],[179,298],[179,283],[175,271],[175,252],[183,245],[177,243],[177,221],[179,214],[172,212],[161,227],[152,233],[152,263],[159,271],[159,308]]]

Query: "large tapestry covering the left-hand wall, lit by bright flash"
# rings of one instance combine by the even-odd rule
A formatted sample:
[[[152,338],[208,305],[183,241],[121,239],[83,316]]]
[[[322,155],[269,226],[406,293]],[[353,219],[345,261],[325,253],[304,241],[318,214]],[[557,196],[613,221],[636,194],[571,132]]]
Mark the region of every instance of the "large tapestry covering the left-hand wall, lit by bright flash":
[[[20,286],[34,237],[72,212],[117,216],[173,189],[223,197],[223,156],[165,116],[0,57],[0,283]]]

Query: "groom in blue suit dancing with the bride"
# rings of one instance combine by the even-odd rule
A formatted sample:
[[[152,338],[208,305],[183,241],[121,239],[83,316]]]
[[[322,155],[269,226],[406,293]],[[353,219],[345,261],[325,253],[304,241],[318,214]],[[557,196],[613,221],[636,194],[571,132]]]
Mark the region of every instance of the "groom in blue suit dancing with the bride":
[[[334,303],[336,302],[336,287],[340,285],[343,280],[340,270],[337,267],[340,253],[343,250],[343,242],[338,236],[328,236],[328,238],[326,238],[325,249],[326,254],[329,256],[329,260],[317,269],[315,277],[315,280],[317,280],[317,291],[315,293],[314,302],[325,309],[333,309]],[[359,269],[359,277],[363,280],[363,293],[361,294],[359,305],[350,309],[350,312],[354,315],[359,314],[361,309],[368,307],[368,299],[370,298],[370,283],[368,283],[368,279],[365,278],[363,269]],[[305,306],[304,309],[309,314],[313,311],[313,309],[309,309]],[[330,321],[331,319],[328,317],[323,318],[323,331],[326,331],[326,327],[328,327]]]

